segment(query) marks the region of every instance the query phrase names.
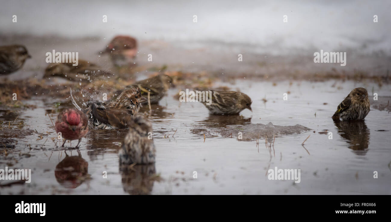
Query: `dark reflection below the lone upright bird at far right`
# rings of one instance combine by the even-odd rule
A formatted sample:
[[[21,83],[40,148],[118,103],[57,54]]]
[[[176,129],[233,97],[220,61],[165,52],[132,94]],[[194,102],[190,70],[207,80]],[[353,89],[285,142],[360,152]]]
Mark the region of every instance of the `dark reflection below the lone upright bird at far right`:
[[[338,134],[344,139],[348,140],[356,155],[366,155],[369,145],[369,129],[364,121],[334,121],[338,129]]]

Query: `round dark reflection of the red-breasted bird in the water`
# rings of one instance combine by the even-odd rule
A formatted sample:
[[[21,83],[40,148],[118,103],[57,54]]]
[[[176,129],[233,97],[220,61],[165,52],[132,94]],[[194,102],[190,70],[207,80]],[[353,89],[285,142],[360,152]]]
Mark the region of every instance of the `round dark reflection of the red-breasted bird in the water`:
[[[64,152],[66,156],[57,164],[54,176],[60,185],[74,189],[90,178],[88,162],[81,157],[79,150],[78,156],[68,156],[66,151]]]

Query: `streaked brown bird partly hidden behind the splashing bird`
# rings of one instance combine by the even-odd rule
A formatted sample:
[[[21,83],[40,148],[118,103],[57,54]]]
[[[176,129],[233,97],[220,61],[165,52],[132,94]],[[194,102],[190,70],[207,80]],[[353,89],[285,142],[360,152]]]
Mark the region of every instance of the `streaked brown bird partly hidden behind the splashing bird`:
[[[167,90],[174,87],[174,84],[172,83],[171,76],[161,74],[135,82],[128,85],[125,89],[132,87],[139,87],[141,89],[142,96],[146,98],[148,98],[147,96],[149,92],[151,104],[157,104],[160,99],[165,96]],[[143,104],[147,103],[148,101],[145,101]]]

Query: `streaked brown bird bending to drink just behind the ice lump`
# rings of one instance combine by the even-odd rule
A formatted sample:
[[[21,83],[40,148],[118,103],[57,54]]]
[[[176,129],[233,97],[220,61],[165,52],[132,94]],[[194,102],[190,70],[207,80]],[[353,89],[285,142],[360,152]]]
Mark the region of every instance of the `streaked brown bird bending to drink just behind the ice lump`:
[[[203,103],[211,114],[239,114],[244,109],[253,111],[251,109],[251,103],[253,103],[251,98],[242,92],[213,90],[209,92],[211,92],[209,97],[202,95],[199,98],[199,102]],[[206,101],[208,98],[211,99],[211,103],[209,102],[210,105]]]

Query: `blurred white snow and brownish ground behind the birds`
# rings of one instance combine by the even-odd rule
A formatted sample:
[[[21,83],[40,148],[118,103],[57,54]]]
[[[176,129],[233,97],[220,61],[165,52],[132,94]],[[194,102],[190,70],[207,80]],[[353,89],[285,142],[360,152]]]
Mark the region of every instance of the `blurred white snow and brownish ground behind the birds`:
[[[106,58],[97,52],[118,34],[138,39],[139,65],[167,65],[170,71],[267,77],[360,71],[373,76],[386,75],[391,61],[389,1],[2,0],[1,5],[0,44],[27,45],[35,53],[24,69],[38,76],[47,65],[44,53],[53,49],[77,51],[80,59],[104,66]],[[314,64],[313,54],[321,49],[347,52],[346,67]],[[148,63],[150,53],[153,62]]]

